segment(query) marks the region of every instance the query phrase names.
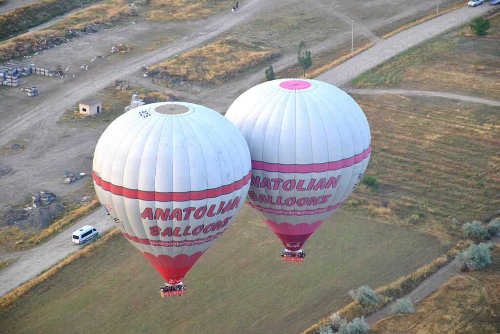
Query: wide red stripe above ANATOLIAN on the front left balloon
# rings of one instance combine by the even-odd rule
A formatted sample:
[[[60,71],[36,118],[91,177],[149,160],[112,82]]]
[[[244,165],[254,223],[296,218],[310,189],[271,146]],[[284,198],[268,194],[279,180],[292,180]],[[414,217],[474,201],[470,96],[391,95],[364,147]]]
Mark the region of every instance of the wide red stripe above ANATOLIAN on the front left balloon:
[[[207,198],[213,198],[221,195],[230,194],[234,190],[239,190],[250,181],[251,171],[249,171],[248,174],[246,174],[242,179],[235,181],[231,184],[226,184],[224,186],[220,186],[217,188],[198,190],[198,191],[167,192],[167,193],[128,189],[122,186],[117,186],[110,182],[102,180],[102,178],[97,176],[94,171],[92,171],[92,177],[96,185],[101,187],[103,190],[111,192],[114,195],[139,199],[143,201],[182,202],[182,201],[204,200]]]

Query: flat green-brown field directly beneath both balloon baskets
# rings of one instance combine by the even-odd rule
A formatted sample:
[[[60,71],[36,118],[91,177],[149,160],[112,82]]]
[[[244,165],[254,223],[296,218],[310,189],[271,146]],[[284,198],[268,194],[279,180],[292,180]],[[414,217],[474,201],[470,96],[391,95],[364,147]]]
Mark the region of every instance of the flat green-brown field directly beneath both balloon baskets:
[[[350,300],[349,289],[388,283],[447,246],[339,211],[309,239],[303,264],[284,264],[281,243],[245,207],[189,272],[185,298],[161,300],[160,276],[118,236],[32,290],[0,323],[6,333],[67,332],[90,317],[86,330],[99,333],[298,333]]]

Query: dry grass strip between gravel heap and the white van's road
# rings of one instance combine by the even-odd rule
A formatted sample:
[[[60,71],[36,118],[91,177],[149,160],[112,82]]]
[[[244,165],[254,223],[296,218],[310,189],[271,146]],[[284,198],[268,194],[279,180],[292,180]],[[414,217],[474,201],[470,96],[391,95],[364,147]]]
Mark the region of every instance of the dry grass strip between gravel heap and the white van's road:
[[[19,240],[15,245],[13,245],[12,250],[21,251],[32,248],[42,243],[47,238],[67,228],[68,226],[73,225],[78,220],[87,216],[89,213],[95,211],[95,209],[99,207],[99,200],[97,198],[94,198],[88,204],[83,204],[77,209],[70,211],[64,217],[56,220],[47,228],[41,230],[40,233],[37,233],[35,236],[26,240]]]

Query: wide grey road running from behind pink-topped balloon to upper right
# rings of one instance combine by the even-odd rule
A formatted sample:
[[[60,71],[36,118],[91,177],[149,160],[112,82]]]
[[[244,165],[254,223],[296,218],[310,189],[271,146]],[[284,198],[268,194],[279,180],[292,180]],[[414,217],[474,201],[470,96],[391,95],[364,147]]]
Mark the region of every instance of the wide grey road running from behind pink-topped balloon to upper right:
[[[331,83],[338,87],[343,87],[356,76],[381,64],[390,57],[427,39],[436,37],[449,29],[464,24],[472,18],[482,15],[491,9],[493,8],[487,4],[478,7],[464,6],[441,16],[437,16],[376,43],[355,57],[318,75],[316,79]]]

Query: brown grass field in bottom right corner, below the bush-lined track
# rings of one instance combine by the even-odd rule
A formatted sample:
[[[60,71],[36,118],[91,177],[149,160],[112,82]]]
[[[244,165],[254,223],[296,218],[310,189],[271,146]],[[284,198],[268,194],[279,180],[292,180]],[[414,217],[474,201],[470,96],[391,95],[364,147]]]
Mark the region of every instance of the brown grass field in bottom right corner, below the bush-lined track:
[[[500,331],[500,251],[483,270],[459,274],[415,305],[415,313],[382,319],[371,334],[498,333]]]

